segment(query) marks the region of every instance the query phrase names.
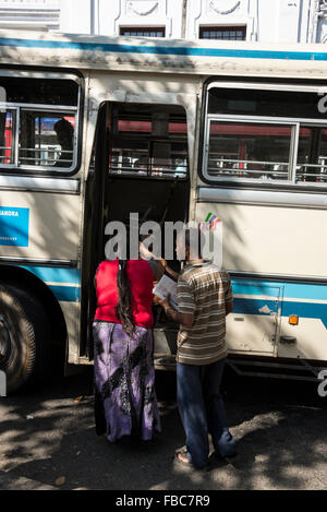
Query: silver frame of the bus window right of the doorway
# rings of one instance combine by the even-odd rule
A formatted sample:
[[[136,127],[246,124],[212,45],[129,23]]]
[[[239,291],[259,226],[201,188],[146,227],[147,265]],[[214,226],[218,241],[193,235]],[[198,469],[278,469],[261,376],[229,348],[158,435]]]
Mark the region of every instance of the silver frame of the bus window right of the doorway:
[[[230,78],[225,78],[225,80],[218,79],[216,76],[207,79],[203,85],[203,102],[201,108],[201,127],[199,127],[199,143],[198,143],[198,170],[197,175],[199,179],[210,186],[210,187],[222,187],[222,188],[255,188],[255,189],[268,189],[268,190],[290,190],[290,191],[308,191],[308,192],[324,192],[327,190],[327,182],[301,182],[296,181],[296,158],[298,158],[298,145],[299,145],[299,131],[301,126],[322,126],[327,128],[327,120],[317,119],[317,118],[288,118],[288,117],[266,117],[266,116],[245,116],[245,115],[220,115],[220,114],[207,114],[208,110],[208,92],[213,87],[219,88],[247,88],[247,90],[267,90],[267,91],[286,91],[286,92],[306,92],[317,95],[327,94],[327,82],[323,84],[322,82],[312,83],[310,85],[303,84],[301,81],[294,82],[290,79],[289,83],[275,81],[267,82],[265,78],[258,76],[258,82],[252,82],[249,79],[246,82],[242,78],[241,80],[231,81]],[[293,141],[293,154],[292,154],[292,174],[290,180],[266,180],[266,179],[246,179],[240,177],[208,177],[206,164],[206,154],[208,153],[208,118],[216,121],[233,120],[234,122],[244,122],[244,120],[254,121],[259,120],[262,123],[269,123],[270,121],[276,121],[283,124],[294,124],[296,126],[296,139]],[[225,119],[223,119],[225,118]],[[290,162],[291,167],[291,162]],[[315,190],[317,189],[317,190]]]

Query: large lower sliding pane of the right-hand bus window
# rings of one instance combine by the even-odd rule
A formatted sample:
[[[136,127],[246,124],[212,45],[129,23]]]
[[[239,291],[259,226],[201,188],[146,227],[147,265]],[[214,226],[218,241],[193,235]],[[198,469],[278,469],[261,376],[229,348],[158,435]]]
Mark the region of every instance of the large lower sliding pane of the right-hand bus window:
[[[211,121],[209,177],[288,179],[292,127]]]

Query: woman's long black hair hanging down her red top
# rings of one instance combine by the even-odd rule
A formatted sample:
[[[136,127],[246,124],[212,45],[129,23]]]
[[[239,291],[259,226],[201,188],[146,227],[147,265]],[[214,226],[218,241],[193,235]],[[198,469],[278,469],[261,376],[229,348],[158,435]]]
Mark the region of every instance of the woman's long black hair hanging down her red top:
[[[128,260],[119,260],[117,273],[118,301],[116,306],[117,318],[122,322],[125,332],[133,336],[134,319],[132,310],[131,284],[126,273]]]

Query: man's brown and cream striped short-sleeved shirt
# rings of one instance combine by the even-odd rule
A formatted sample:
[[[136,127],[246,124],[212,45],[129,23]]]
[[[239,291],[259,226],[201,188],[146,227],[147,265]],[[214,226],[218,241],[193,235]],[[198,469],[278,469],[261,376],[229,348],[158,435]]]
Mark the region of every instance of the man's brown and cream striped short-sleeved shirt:
[[[180,325],[177,361],[210,365],[227,356],[226,306],[232,303],[229,274],[210,261],[189,262],[178,281],[181,313],[193,313],[192,328]]]

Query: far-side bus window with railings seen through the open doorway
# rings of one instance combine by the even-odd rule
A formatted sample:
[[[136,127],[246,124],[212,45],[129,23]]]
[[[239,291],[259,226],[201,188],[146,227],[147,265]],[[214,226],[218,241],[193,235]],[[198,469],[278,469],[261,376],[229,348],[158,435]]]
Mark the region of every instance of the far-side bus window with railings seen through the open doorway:
[[[187,176],[187,128],[182,107],[118,104],[111,124],[110,174],[156,179]]]

